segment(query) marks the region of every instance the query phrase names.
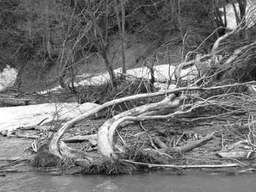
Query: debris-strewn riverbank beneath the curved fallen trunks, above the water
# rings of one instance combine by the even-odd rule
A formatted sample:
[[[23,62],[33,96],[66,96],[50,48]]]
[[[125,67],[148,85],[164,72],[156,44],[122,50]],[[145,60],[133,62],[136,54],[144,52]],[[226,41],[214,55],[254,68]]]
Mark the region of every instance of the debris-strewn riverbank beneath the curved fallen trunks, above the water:
[[[214,115],[215,114],[215,115]],[[197,119],[200,117],[200,120]],[[91,157],[97,155],[97,132],[105,123],[106,119],[82,120],[64,134],[64,141],[69,149],[79,150],[80,153],[90,154]],[[56,122],[56,126],[61,123]],[[64,123],[64,122],[62,122]],[[63,125],[63,124],[62,124]],[[49,166],[50,162],[41,161],[35,164],[34,159],[49,158],[45,154],[39,153],[40,145],[43,145],[50,137],[53,130],[42,131],[40,129],[26,130],[18,129],[12,138],[1,137],[1,168],[2,174],[10,172],[27,172],[31,169],[20,170],[17,164],[21,162],[34,166]],[[186,169],[203,169],[211,172],[230,172],[238,174],[239,172],[255,171],[255,153],[252,147],[253,140],[248,140],[253,134],[253,130],[248,127],[248,114],[236,112],[232,115],[216,114],[216,110],[209,107],[208,110],[194,111],[190,114],[173,118],[171,120],[147,120],[140,123],[128,123],[118,131],[118,158],[127,159],[128,161],[109,161],[102,169],[102,164],[84,164],[85,161],[77,158],[75,161],[54,160],[54,166],[48,169],[42,169],[42,172],[48,174],[120,174],[134,173],[140,170],[157,170],[157,169],[176,169],[181,174]],[[55,131],[53,131],[54,133]],[[161,142],[170,148],[193,146],[193,143],[200,141],[212,135],[211,139],[206,142],[200,142],[200,145],[190,147],[189,150],[173,153],[161,152]],[[37,136],[34,139],[17,138],[20,135],[26,137]],[[32,145],[34,143],[34,146]],[[163,145],[163,144],[162,144]],[[46,149],[46,148],[45,148]],[[151,149],[151,150],[149,150]],[[74,155],[77,153],[74,153]],[[87,155],[88,158],[88,155]],[[21,161],[20,161],[21,160]],[[16,162],[15,162],[16,161]],[[112,163],[111,163],[112,162]],[[11,163],[11,164],[10,164]],[[14,164],[13,164],[14,163]],[[9,165],[8,165],[9,164]],[[106,172],[108,166],[123,167],[120,172]],[[157,166],[158,165],[158,166]],[[231,167],[230,167],[231,166]],[[69,167],[69,168],[67,168]],[[129,169],[127,169],[127,167]],[[34,169],[39,170],[39,169]],[[50,171],[49,171],[50,170]],[[101,170],[102,172],[97,172]]]

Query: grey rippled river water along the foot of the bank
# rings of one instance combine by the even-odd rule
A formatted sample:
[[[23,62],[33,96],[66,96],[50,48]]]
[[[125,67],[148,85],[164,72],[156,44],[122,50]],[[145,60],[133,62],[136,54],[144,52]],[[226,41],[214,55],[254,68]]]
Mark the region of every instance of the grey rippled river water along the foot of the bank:
[[[211,174],[189,171],[178,176],[172,171],[102,176],[50,176],[37,172],[12,173],[0,177],[0,191],[196,191],[250,192],[256,191],[256,174]]]

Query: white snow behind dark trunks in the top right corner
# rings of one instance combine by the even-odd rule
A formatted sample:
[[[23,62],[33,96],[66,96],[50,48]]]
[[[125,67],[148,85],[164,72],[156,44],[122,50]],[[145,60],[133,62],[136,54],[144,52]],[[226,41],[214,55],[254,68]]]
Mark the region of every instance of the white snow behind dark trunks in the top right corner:
[[[236,5],[236,9],[239,12],[238,3],[235,5]],[[219,10],[224,12],[223,8]],[[236,24],[236,16],[235,16],[235,12],[232,4],[227,4],[226,12],[227,12],[227,28],[230,30],[233,30],[236,28],[237,24]],[[248,28],[254,26],[256,23],[256,0],[247,0],[246,23],[248,24]]]

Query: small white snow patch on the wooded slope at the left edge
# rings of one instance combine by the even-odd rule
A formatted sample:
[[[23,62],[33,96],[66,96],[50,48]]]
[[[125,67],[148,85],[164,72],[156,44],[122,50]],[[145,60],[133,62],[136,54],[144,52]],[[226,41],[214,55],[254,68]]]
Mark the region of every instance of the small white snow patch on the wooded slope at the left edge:
[[[4,88],[11,87],[16,79],[17,79],[18,72],[16,69],[11,68],[9,65],[7,65],[4,68],[4,71],[0,73],[0,91]]]

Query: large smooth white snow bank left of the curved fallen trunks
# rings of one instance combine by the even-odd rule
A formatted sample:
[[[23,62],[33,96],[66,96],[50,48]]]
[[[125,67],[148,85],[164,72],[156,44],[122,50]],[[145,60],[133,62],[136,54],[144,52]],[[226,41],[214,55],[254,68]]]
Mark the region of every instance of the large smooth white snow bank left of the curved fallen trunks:
[[[36,126],[52,120],[69,120],[98,107],[92,103],[36,104],[20,107],[0,107],[0,131],[13,131],[19,127]],[[45,118],[47,118],[45,120]]]

